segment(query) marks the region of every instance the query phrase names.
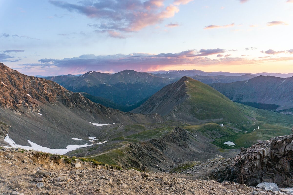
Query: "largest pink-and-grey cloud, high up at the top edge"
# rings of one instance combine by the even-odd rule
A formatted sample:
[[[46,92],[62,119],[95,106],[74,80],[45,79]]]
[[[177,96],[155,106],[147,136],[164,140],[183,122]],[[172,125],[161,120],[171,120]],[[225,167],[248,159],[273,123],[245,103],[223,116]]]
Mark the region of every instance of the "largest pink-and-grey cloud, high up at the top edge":
[[[100,0],[95,3],[79,1],[78,4],[52,0],[49,2],[94,19],[98,23],[88,25],[96,28],[96,32],[108,32],[109,36],[121,38],[123,35],[113,36],[113,32],[137,32],[144,27],[161,23],[178,13],[181,4],[191,1],[193,0],[175,0],[168,6],[164,6],[164,0]]]

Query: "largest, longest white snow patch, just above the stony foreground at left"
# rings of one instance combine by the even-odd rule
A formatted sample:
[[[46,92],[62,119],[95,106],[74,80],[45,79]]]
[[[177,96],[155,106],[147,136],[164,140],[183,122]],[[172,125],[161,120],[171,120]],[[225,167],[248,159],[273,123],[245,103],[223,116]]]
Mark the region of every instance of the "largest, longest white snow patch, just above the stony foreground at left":
[[[9,138],[8,134],[6,134],[6,137],[5,137],[4,141],[6,141],[13,148],[22,148],[22,149],[25,149],[25,150],[35,150],[35,151],[48,152],[48,153],[59,154],[59,155],[65,154],[65,153],[67,153],[69,151],[73,151],[73,150],[78,149],[78,148],[84,148],[86,146],[92,146],[93,145],[93,144],[68,145],[68,146],[66,146],[66,149],[51,149],[51,148],[40,146],[40,145],[35,144],[34,142],[28,140],[28,143],[31,146],[21,146],[19,144],[15,144],[15,142],[11,138]],[[103,144],[103,143],[101,143],[101,144]]]

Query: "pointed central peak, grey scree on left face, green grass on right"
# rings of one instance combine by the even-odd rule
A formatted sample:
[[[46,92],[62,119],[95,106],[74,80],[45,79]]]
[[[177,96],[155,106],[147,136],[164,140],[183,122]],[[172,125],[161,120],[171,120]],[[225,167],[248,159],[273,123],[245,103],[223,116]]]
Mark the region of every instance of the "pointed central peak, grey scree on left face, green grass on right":
[[[240,108],[223,94],[189,77],[167,85],[131,112],[157,113],[190,123],[225,121],[240,125],[247,121]]]

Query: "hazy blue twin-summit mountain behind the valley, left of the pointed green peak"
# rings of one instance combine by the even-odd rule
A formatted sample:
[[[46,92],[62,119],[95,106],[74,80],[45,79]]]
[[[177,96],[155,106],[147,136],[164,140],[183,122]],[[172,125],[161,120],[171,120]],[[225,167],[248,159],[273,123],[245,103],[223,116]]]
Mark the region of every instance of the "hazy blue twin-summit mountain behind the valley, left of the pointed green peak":
[[[174,82],[150,73],[123,70],[115,74],[91,71],[81,76],[46,77],[73,92],[86,92],[92,96],[107,98],[119,105],[132,105],[153,95]]]

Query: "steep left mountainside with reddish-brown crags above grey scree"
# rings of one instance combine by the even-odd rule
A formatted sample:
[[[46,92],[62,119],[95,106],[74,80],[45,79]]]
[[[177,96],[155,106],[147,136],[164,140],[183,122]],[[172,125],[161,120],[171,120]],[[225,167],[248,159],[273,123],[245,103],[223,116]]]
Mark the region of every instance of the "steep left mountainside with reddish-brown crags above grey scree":
[[[39,145],[37,148],[63,148],[64,153],[70,151],[65,149],[67,146],[74,149],[76,145],[107,141],[113,134],[123,132],[127,124],[163,122],[159,115],[130,114],[106,108],[55,82],[23,75],[2,63],[0,113],[0,142],[5,137],[23,146],[35,143]]]

